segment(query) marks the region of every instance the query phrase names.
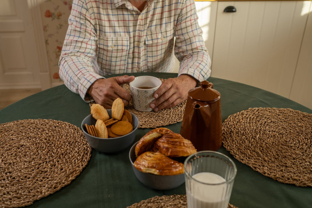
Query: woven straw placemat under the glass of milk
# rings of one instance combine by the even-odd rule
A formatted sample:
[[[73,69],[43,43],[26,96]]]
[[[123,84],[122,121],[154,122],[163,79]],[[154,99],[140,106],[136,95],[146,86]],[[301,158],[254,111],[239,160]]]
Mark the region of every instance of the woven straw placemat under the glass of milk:
[[[139,203],[134,203],[127,208],[187,208],[186,195],[154,196]],[[228,208],[237,208],[229,203]]]

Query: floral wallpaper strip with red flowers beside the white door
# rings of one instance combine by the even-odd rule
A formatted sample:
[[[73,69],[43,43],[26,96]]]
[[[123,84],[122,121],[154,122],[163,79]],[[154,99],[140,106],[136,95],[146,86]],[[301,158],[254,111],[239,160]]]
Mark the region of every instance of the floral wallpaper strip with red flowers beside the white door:
[[[72,0],[44,0],[40,4],[52,86],[53,83],[62,83],[58,61],[68,27],[71,4]]]

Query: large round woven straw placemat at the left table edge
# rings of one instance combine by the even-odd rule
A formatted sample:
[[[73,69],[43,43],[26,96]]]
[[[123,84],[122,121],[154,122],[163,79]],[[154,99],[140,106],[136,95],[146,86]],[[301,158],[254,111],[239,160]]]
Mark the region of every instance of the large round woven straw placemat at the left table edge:
[[[28,206],[71,183],[91,147],[80,128],[27,119],[0,124],[0,207]]]

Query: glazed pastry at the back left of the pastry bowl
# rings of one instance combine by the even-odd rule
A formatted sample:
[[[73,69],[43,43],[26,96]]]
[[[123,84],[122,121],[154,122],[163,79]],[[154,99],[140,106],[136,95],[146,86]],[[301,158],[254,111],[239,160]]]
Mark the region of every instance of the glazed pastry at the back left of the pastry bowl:
[[[147,132],[135,146],[135,155],[139,156],[143,152],[150,151],[154,143],[163,135],[173,133],[170,129],[167,128],[156,128]]]

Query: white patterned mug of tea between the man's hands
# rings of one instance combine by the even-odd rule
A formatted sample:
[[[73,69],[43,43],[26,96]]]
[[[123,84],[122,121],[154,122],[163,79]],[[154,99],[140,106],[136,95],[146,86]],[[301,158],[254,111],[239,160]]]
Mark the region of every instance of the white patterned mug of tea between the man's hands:
[[[142,112],[152,111],[153,109],[149,105],[155,99],[154,92],[161,84],[161,80],[157,77],[135,77],[134,81],[129,83],[134,109]]]

